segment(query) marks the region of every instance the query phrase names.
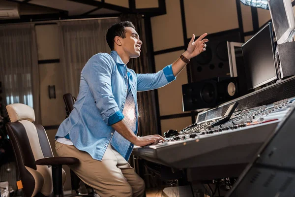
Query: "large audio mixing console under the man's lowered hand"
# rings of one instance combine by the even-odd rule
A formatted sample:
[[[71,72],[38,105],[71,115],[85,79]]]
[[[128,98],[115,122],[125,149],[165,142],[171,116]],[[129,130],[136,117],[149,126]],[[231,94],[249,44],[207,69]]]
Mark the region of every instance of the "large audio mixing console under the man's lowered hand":
[[[199,113],[195,124],[179,132],[166,132],[165,141],[134,147],[132,154],[173,168],[212,167],[210,170],[222,169],[219,171],[225,172],[226,166],[249,163],[294,102],[295,98],[284,99],[243,111],[236,110],[228,121],[216,125],[230,104],[219,106]],[[210,127],[212,123],[214,127]]]

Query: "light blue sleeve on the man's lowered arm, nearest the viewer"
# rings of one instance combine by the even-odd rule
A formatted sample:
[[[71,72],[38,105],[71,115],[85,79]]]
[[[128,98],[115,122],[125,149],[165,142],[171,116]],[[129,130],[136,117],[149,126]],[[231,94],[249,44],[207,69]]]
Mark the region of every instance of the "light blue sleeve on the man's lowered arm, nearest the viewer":
[[[110,58],[104,54],[98,54],[92,57],[82,70],[96,107],[107,125],[113,125],[124,118],[112,92],[113,69]]]

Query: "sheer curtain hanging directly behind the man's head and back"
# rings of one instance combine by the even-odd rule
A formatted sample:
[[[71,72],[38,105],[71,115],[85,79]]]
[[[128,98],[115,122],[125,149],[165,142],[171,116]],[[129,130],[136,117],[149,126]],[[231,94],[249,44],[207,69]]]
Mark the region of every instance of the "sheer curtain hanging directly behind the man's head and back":
[[[82,68],[93,55],[101,52],[110,53],[106,34],[108,28],[118,21],[118,18],[112,18],[59,22],[64,93],[71,93],[77,97]]]

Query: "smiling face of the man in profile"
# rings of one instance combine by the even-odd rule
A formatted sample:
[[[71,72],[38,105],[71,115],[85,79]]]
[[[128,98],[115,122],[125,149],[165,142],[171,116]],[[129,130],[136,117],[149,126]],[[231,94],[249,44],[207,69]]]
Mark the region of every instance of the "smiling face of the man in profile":
[[[130,27],[125,28],[125,38],[122,39],[122,47],[130,58],[140,56],[142,41],[139,39],[138,33]]]

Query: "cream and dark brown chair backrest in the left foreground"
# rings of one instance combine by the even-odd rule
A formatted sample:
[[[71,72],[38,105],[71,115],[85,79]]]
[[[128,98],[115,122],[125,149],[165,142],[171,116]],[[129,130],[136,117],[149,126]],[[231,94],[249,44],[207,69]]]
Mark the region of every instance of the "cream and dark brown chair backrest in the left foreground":
[[[51,166],[35,164],[38,159],[53,157],[46,131],[42,125],[34,124],[34,110],[28,105],[9,104],[5,109],[10,120],[6,124],[6,129],[12,142],[25,196],[52,196]],[[63,170],[62,179],[63,185]]]

